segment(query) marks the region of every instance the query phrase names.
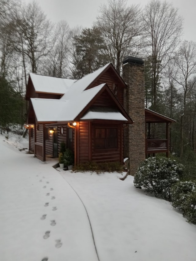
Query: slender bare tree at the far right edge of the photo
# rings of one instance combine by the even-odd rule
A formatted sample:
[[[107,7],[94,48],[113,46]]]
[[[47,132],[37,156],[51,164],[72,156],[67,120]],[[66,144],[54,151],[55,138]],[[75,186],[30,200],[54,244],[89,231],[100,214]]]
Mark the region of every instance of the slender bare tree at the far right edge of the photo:
[[[183,41],[179,47],[178,55],[175,58],[178,67],[178,75],[175,81],[179,84],[181,93],[182,115],[180,119],[180,158],[183,156],[183,131],[187,114],[187,102],[190,100],[190,93],[196,83],[196,43]]]

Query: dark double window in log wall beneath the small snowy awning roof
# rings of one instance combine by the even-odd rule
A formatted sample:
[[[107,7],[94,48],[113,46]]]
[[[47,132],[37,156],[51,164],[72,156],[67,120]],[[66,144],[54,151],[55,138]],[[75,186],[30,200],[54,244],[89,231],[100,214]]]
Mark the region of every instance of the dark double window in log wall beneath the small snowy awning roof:
[[[117,148],[117,128],[96,128],[95,148],[96,149]]]

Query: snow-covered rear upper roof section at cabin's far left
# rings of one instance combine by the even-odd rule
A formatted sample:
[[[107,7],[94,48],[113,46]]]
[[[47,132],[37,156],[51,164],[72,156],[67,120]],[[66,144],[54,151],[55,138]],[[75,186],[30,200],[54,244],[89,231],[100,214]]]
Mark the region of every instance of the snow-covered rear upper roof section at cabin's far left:
[[[29,73],[36,92],[49,92],[56,94],[64,94],[70,86],[76,81],[72,79],[64,79]]]

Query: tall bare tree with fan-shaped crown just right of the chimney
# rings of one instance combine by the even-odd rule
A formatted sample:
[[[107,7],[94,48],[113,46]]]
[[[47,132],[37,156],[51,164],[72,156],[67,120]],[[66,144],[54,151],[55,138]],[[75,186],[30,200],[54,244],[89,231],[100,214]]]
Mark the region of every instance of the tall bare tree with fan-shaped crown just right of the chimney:
[[[147,56],[152,58],[152,109],[157,107],[157,88],[182,34],[183,18],[167,2],[150,1],[143,11]]]

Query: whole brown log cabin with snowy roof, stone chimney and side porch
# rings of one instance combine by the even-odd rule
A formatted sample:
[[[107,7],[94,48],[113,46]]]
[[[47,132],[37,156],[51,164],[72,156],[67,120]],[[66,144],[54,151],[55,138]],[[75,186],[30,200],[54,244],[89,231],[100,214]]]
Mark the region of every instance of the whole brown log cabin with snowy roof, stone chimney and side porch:
[[[124,59],[123,77],[111,63],[79,80],[30,73],[26,100],[29,151],[42,161],[58,157],[62,141],[74,152],[74,164],[128,158],[131,174],[147,155],[168,156],[168,126],[175,121],[145,108],[140,58]],[[150,124],[160,122],[166,137],[152,139]]]

